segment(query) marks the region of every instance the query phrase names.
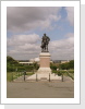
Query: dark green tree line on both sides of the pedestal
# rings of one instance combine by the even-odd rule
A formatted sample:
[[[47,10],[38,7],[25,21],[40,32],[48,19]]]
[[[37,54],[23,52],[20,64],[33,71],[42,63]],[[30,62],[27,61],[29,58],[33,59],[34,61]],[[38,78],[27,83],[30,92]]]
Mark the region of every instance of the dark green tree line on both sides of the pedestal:
[[[13,71],[33,71],[38,70],[39,65],[37,62],[34,62],[32,65],[28,64],[21,64],[19,61],[13,59],[12,57],[7,57],[7,72],[13,72]],[[74,70],[74,60],[71,60],[70,62],[65,63],[50,63],[50,69],[56,72],[57,69],[59,70]]]

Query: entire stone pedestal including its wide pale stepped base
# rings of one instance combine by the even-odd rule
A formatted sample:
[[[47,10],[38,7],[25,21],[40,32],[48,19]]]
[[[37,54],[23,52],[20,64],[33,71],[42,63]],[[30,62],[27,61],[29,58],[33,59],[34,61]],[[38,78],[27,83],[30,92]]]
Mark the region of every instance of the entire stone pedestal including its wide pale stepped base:
[[[49,52],[41,52],[39,55],[40,59],[40,66],[38,71],[33,74],[32,76],[27,77],[26,80],[61,80],[61,76],[54,75],[51,73],[50,69],[50,53]]]

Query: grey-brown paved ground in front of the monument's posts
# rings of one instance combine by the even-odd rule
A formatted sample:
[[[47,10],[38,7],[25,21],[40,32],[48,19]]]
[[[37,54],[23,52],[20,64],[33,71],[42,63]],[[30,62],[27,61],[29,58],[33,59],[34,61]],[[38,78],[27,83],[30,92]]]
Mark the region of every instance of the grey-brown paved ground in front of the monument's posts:
[[[8,98],[73,98],[74,82],[70,77],[64,77],[64,82],[61,81],[8,82],[7,97]]]

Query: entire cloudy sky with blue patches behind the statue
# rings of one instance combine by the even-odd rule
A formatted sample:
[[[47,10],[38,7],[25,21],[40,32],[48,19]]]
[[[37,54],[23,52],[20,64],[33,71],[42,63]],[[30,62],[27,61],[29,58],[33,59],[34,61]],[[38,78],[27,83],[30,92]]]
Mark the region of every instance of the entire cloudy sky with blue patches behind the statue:
[[[52,60],[74,59],[73,7],[8,7],[8,56],[17,60],[39,57],[41,37],[50,37]]]

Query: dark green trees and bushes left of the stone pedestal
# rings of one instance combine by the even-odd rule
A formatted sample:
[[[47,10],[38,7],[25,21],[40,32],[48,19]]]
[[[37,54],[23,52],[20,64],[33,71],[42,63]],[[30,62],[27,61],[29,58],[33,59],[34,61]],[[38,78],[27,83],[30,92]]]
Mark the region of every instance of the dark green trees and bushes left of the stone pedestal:
[[[21,64],[19,61],[14,60],[12,57],[7,57],[7,72],[32,72],[34,69],[37,70],[39,65],[35,62],[32,65]]]

